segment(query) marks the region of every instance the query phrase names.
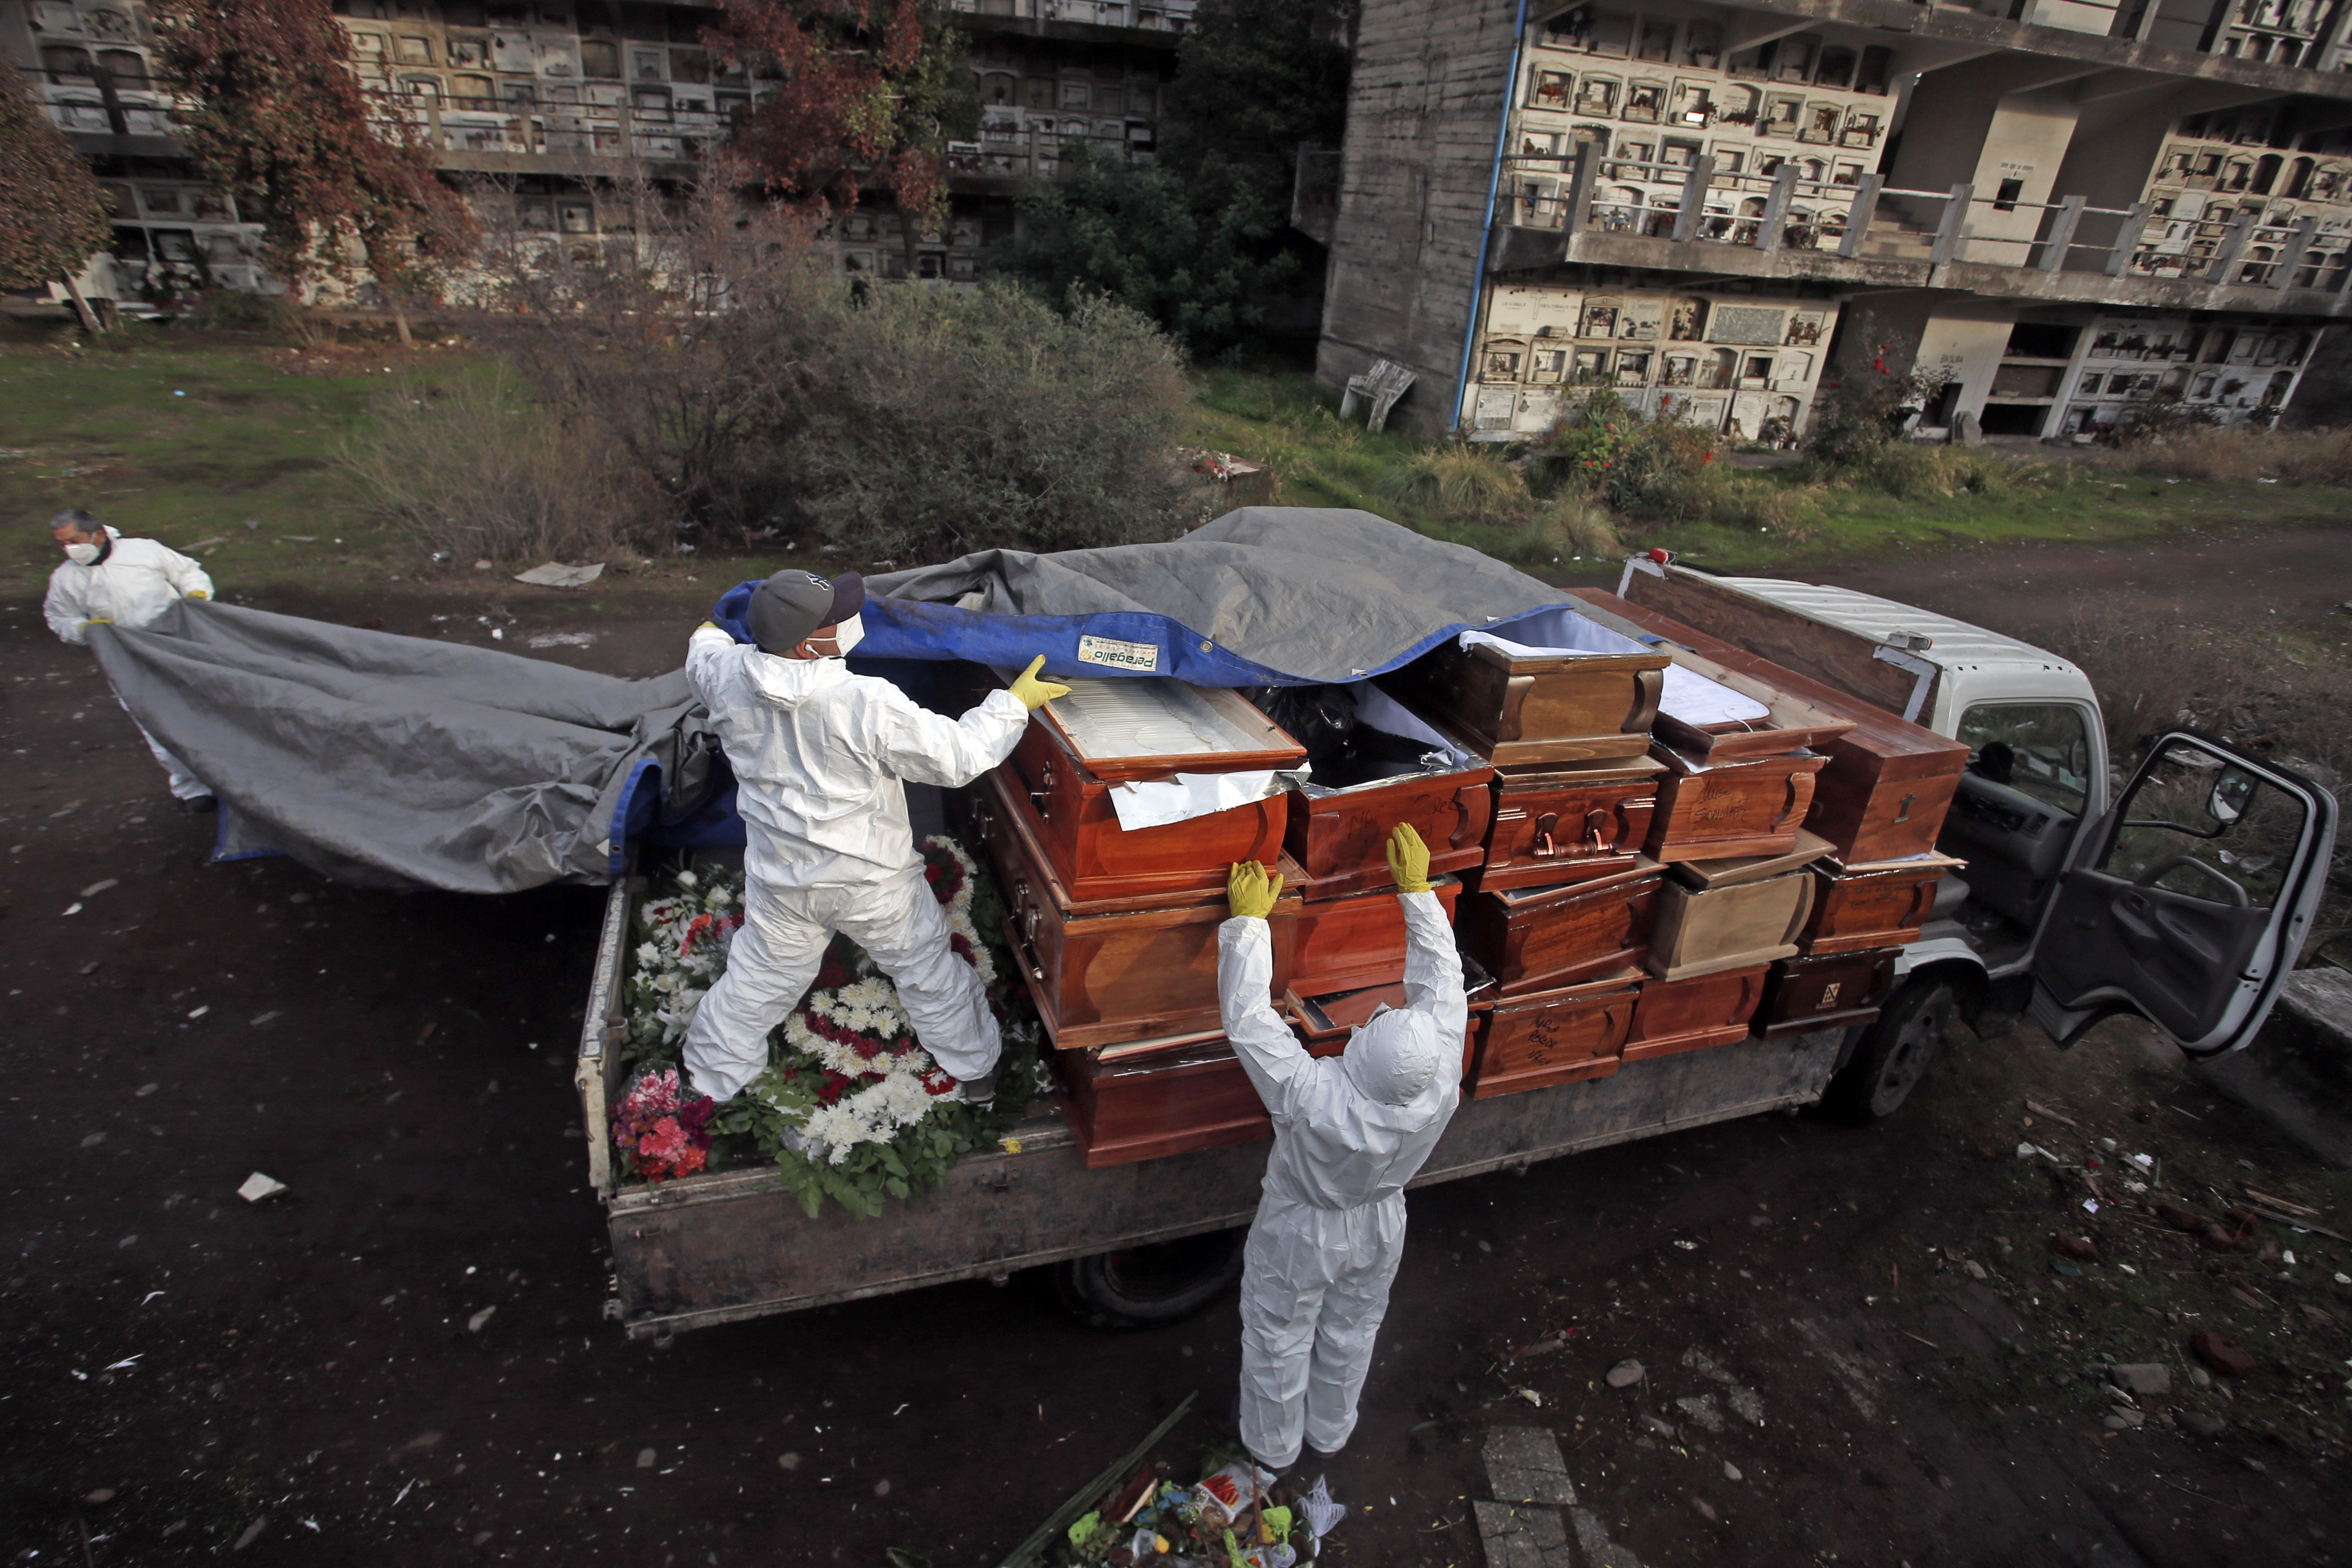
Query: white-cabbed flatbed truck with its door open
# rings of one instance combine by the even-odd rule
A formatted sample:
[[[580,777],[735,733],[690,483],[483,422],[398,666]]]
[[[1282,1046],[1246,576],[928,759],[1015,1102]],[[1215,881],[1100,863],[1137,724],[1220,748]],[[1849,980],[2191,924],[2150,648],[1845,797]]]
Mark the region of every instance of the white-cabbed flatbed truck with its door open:
[[[2336,839],[2333,797],[2225,741],[2173,731],[2117,788],[2089,677],[2044,649],[1842,588],[1628,562],[1618,595],[1959,738],[1971,764],[1938,849],[1945,877],[1877,1023],[1625,1063],[1616,1074],[1465,1100],[1414,1187],[1828,1100],[1896,1114],[1947,1032],[2032,1016],[2072,1044],[2138,1013],[2190,1056],[2244,1046],[2310,931]],[[1581,604],[1604,611],[1606,599]],[[1621,623],[1623,630],[1639,628]],[[1992,766],[1999,748],[1999,766]],[[633,1338],[1051,1267],[1103,1328],[1183,1319],[1240,1272],[1265,1145],[1089,1168],[1058,1098],[997,1150],[877,1218],[802,1213],[781,1175],[729,1168],[661,1185],[612,1161],[628,922],[614,882],[576,1084],[607,1211],[616,1316]]]

